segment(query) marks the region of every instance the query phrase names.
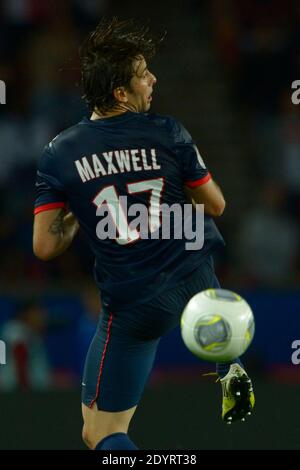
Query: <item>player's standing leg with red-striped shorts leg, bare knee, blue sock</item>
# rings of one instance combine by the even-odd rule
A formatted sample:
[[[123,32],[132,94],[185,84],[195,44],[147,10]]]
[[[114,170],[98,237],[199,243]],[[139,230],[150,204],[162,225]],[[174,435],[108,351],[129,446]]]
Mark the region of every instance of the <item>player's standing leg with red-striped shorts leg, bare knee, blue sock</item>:
[[[91,449],[137,449],[128,428],[159,340],[141,340],[133,334],[132,315],[127,315],[104,312],[87,354],[82,383],[83,439]]]

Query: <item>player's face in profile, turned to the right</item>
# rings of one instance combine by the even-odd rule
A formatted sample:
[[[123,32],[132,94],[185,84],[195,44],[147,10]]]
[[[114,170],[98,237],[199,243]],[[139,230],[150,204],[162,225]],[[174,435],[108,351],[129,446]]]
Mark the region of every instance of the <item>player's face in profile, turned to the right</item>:
[[[135,74],[130,82],[130,91],[126,91],[127,104],[139,113],[150,109],[153,87],[156,77],[148,70],[143,57],[134,63]]]

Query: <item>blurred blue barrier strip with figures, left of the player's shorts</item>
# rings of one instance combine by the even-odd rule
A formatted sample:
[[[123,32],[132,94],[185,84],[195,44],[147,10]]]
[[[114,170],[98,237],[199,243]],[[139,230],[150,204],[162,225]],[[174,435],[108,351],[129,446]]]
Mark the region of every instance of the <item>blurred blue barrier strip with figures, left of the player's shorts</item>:
[[[0,367],[0,390],[46,390],[78,384],[94,336],[101,300],[93,283],[80,297],[26,295],[0,298],[6,318],[0,338],[6,346]],[[7,304],[7,302],[9,302]]]

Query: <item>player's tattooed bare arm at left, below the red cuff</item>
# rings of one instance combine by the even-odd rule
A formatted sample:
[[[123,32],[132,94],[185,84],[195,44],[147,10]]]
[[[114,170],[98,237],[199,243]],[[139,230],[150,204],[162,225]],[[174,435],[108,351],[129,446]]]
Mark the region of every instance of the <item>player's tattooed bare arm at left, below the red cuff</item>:
[[[33,251],[43,261],[50,261],[64,253],[71,245],[78,222],[72,212],[53,209],[35,215],[33,227]]]

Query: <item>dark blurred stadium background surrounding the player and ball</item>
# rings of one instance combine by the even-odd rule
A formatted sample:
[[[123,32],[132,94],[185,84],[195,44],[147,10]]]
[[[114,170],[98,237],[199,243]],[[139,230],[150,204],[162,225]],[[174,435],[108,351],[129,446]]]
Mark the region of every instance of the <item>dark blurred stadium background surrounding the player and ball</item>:
[[[220,386],[185,349],[161,342],[132,425],[142,448],[299,449],[300,79],[296,0],[0,0],[0,449],[83,449],[80,378],[100,308],[80,235],[50,263],[32,254],[35,166],[43,146],[87,114],[78,46],[103,16],[168,31],[152,70],[152,110],[190,130],[227,209],[216,255],[225,288],[253,307],[245,362],[256,413],[225,428]]]

